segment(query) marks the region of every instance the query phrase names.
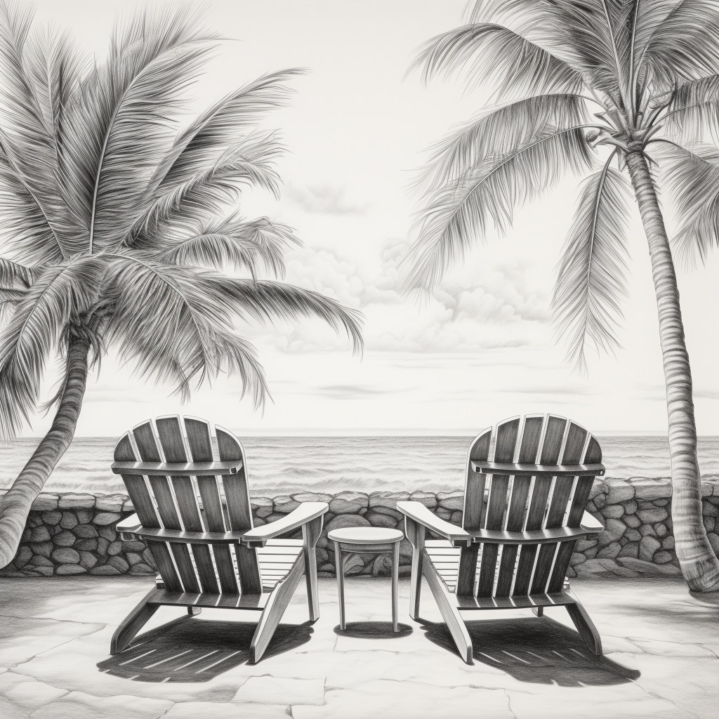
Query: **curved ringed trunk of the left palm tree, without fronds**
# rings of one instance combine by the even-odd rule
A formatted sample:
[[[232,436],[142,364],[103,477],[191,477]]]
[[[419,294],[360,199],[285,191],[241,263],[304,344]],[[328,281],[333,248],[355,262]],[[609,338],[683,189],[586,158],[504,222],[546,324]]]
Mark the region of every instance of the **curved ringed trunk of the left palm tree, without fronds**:
[[[29,462],[0,500],[0,567],[12,562],[27,521],[27,514],[50,472],[68,449],[75,434],[88,374],[87,339],[76,338],[68,347],[65,387],[50,431],[42,438]]]

